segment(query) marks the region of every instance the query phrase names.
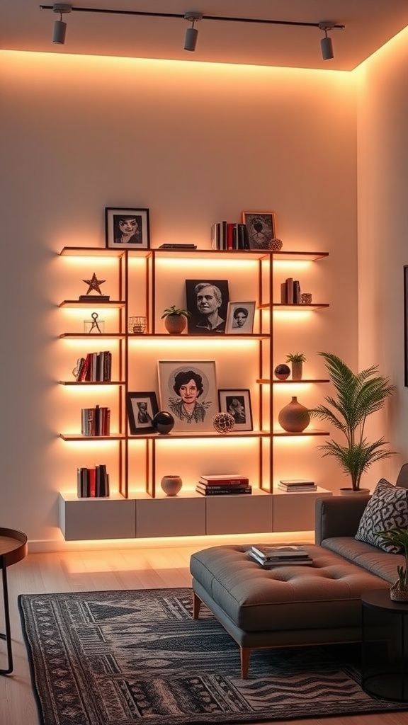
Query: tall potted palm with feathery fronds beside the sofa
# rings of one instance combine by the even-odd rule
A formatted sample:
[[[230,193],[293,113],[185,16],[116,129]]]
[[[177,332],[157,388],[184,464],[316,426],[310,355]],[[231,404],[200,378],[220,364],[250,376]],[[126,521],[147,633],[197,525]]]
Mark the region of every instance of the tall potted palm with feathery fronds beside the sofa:
[[[340,489],[340,494],[362,492],[362,474],[373,463],[389,458],[394,453],[385,447],[388,442],[384,438],[369,442],[364,436],[368,416],[383,408],[385,399],[393,394],[394,386],[388,378],[377,374],[377,365],[372,365],[361,373],[353,373],[337,355],[330,352],[319,352],[319,355],[325,359],[337,396],[325,397],[327,405],[318,405],[309,410],[309,413],[311,417],[331,423],[346,439],[345,444],[330,441],[319,448],[324,457],[333,456],[343,473],[350,476],[351,488]]]

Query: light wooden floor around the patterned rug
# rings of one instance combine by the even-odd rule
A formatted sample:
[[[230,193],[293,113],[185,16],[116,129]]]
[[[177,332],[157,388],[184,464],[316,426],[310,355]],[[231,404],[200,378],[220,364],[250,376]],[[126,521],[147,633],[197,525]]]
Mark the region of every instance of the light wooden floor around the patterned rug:
[[[0,725],[38,725],[39,722],[21,634],[20,615],[17,611],[17,595],[190,587],[189,557],[192,552],[202,548],[203,545],[149,550],[33,553],[9,567],[14,671],[9,676],[0,676]],[[2,613],[0,630],[4,631]],[[3,668],[6,666],[4,645],[0,641],[0,667]],[[295,716],[295,712],[293,715]],[[285,721],[286,724],[288,722]],[[407,725],[408,713],[301,719],[290,722],[298,725]],[[274,721],[274,725],[279,724]]]

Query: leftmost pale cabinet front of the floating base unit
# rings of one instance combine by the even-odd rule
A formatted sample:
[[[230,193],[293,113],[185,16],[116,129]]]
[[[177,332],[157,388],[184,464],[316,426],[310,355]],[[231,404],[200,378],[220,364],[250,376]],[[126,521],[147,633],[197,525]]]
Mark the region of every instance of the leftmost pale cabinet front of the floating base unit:
[[[60,494],[60,529],[66,541],[134,539],[136,502],[132,499],[78,499]]]

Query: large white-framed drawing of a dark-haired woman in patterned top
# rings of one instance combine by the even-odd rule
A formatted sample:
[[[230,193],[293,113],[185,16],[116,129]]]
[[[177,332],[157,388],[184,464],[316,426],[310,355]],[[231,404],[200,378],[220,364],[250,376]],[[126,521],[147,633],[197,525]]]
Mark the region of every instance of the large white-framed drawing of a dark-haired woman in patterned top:
[[[158,360],[161,410],[174,416],[174,431],[213,431],[219,412],[214,360]]]

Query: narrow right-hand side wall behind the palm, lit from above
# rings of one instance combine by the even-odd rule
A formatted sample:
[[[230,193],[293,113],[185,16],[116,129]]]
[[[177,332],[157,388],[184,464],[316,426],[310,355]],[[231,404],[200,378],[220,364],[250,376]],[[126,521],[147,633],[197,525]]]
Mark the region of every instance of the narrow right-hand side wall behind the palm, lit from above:
[[[408,264],[408,29],[354,75],[358,84],[359,367],[378,364],[380,373],[396,386],[384,415],[367,428],[370,437],[385,435],[396,451],[378,467],[378,473],[395,481],[408,456],[403,287],[403,268]]]

